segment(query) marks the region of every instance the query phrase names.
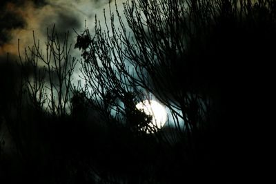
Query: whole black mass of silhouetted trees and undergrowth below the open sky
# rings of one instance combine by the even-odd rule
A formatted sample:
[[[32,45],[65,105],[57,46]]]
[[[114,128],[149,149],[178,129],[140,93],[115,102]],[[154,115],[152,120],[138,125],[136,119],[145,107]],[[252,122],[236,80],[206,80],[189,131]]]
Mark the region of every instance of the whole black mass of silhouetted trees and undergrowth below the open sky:
[[[43,51],[34,39],[21,72],[1,71],[20,75],[0,96],[1,130],[15,147],[5,152],[0,137],[1,181],[237,183],[257,167],[253,121],[265,118],[275,11],[269,0],[128,1],[127,24],[110,12],[111,26],[78,33],[78,61],[67,33],[49,30]],[[72,84],[77,62],[86,85]],[[148,125],[135,108],[148,94],[175,126]]]

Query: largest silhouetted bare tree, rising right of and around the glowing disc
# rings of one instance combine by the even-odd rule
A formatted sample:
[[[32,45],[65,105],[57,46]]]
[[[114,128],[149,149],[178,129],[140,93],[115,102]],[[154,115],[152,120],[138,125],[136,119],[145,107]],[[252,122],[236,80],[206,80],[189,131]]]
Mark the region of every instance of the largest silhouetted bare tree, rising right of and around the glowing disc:
[[[245,122],[253,120],[249,96],[256,94],[253,71],[260,70],[253,63],[273,57],[275,2],[126,1],[124,17],[116,6],[104,18],[92,32],[79,34],[75,45],[82,50],[84,92],[97,99],[97,109],[134,123],[127,118],[128,112],[135,116],[130,107],[153,94],[177,127],[181,141],[172,147],[181,153],[179,165],[193,165],[194,172],[209,162],[238,165],[235,150],[244,140]],[[135,94],[130,101],[128,94]],[[158,136],[161,131],[153,132],[166,140]],[[176,170],[186,171],[183,167]]]

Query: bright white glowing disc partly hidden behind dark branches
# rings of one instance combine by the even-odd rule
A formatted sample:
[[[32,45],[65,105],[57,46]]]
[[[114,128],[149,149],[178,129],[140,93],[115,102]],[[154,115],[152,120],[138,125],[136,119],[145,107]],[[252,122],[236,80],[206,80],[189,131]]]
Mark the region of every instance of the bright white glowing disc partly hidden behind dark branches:
[[[167,121],[166,110],[164,106],[157,101],[141,101],[136,105],[136,108],[152,116],[152,123],[150,123],[151,127],[157,126],[161,128]]]

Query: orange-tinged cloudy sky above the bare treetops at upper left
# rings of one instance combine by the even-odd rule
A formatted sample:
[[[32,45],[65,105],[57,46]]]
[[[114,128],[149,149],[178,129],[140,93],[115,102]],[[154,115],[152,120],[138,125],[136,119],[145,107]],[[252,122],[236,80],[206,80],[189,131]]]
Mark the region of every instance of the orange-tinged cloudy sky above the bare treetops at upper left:
[[[85,20],[93,27],[95,14],[101,19],[103,8],[111,0],[12,0],[0,3],[0,55],[17,55],[17,41],[21,48],[32,45],[32,31],[43,40],[47,28],[55,24],[58,32],[70,31],[72,42],[84,30]],[[112,1],[111,1],[112,2]],[[117,1],[119,6],[121,1]],[[114,1],[112,2],[114,7]],[[122,8],[122,7],[121,7]],[[75,43],[72,43],[75,44]]]

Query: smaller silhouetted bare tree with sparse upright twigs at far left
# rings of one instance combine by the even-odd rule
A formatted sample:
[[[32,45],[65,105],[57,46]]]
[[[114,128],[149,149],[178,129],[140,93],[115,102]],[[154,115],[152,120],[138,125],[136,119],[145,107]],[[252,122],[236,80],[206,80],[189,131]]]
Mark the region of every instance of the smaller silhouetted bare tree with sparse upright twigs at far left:
[[[66,172],[68,165],[62,165],[66,156],[61,154],[72,152],[69,143],[73,139],[69,135],[78,133],[73,131],[70,119],[75,106],[75,101],[71,101],[76,92],[72,88],[72,74],[77,59],[70,56],[68,32],[60,38],[55,26],[51,31],[47,30],[45,45],[33,33],[34,45],[25,48],[23,54],[18,42],[20,79],[12,91],[16,100],[6,104],[1,116],[12,137],[10,144],[16,148],[8,150],[17,155],[17,161],[11,164],[18,165],[19,173],[6,169],[21,174],[12,178],[12,183],[25,178],[46,183],[54,182],[53,179],[64,181],[62,172]]]

